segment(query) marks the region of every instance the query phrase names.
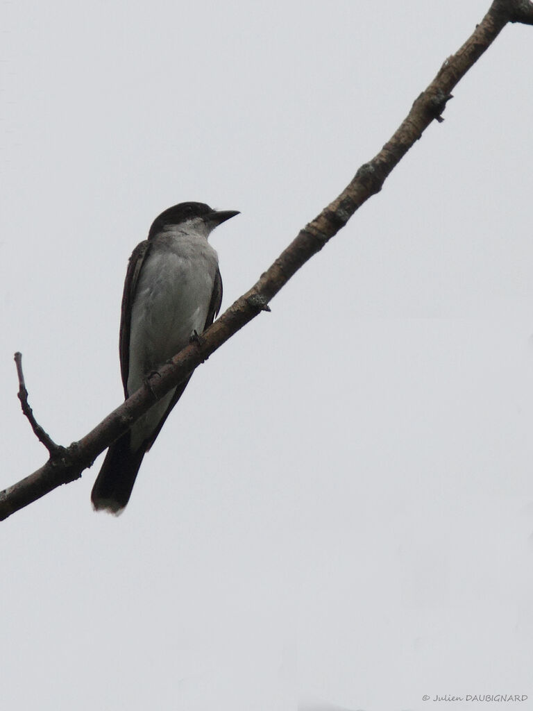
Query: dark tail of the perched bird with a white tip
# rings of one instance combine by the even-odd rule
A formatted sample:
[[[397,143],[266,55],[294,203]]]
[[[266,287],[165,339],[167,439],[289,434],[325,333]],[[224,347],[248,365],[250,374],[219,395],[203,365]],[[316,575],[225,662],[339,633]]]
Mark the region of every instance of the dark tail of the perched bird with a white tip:
[[[123,434],[107,450],[102,469],[92,487],[91,501],[95,510],[103,508],[118,514],[129,501],[146,452],[143,446],[131,450],[129,435],[129,432]]]

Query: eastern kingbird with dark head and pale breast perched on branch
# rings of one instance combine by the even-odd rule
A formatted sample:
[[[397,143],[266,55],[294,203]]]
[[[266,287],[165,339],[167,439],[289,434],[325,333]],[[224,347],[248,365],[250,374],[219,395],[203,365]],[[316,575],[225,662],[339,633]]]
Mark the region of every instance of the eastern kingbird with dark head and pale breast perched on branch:
[[[148,239],[129,258],[120,321],[120,369],[126,399],[146,378],[202,333],[218,314],[222,279],[212,230],[238,215],[204,203],[180,203],[152,224]],[[137,472],[189,378],[156,402],[128,432],[113,442],[91,500],[95,509],[120,513]]]

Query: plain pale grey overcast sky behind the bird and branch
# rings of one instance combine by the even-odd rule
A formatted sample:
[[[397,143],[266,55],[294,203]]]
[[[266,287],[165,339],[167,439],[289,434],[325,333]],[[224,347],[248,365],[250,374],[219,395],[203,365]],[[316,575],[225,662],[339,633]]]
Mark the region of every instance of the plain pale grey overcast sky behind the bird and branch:
[[[14,351],[45,429],[82,437],[122,400],[156,215],[242,211],[212,236],[230,306],[489,4],[5,3],[0,488],[45,461]],[[533,708],[532,64],[508,26],[195,373],[124,515],[92,512],[99,458],[1,524],[3,709]]]

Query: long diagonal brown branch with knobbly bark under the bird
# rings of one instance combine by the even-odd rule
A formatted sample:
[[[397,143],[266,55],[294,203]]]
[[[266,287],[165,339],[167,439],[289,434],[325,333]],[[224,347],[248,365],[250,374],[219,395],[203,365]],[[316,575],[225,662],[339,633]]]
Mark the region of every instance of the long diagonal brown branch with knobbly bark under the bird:
[[[46,445],[50,459],[33,474],[0,492],[0,520],[61,484],[78,479],[82,471],[91,466],[96,457],[109,447],[114,439],[126,432],[156,400],[185,380],[200,363],[220,348],[222,343],[261,311],[269,310],[269,301],[298,269],[345,226],[368,198],[382,189],[389,173],[421,138],[429,124],[434,120],[443,120],[441,114],[448,100],[452,98],[453,87],[509,22],[533,24],[533,3],[528,0],[494,0],[472,35],[455,54],[446,59],[431,84],[414,101],[409,114],[392,138],[371,161],[360,167],[338,198],[299,232],[289,247],[286,247],[274,264],[262,274],[259,281],[246,294],[240,296],[203,333],[198,342],[190,343],[181,353],[175,355],[170,363],[163,365],[147,385],[131,395],[95,429],[66,448],[58,447],[49,440],[48,444],[53,444],[52,449]]]

